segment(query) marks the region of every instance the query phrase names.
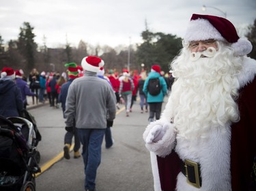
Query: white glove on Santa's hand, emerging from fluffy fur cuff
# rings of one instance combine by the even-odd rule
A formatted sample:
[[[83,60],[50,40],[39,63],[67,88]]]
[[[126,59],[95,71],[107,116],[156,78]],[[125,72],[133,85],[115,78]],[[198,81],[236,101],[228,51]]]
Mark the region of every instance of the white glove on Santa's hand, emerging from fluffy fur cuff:
[[[150,133],[147,135],[145,142],[146,143],[158,142],[160,139],[162,139],[162,137],[164,137],[167,131],[167,128],[168,128],[168,124],[164,124],[163,126],[160,124],[157,124],[150,130]]]

